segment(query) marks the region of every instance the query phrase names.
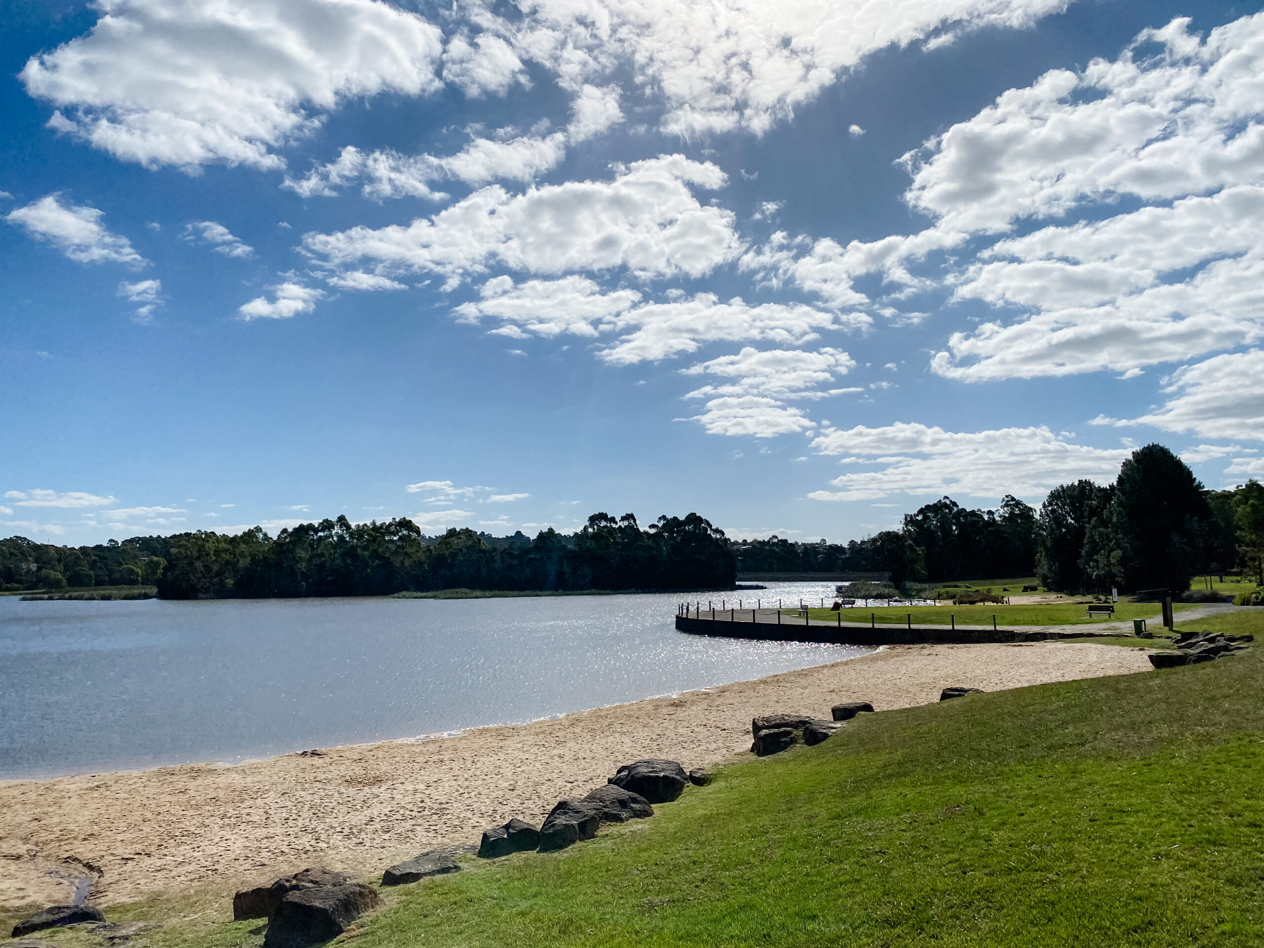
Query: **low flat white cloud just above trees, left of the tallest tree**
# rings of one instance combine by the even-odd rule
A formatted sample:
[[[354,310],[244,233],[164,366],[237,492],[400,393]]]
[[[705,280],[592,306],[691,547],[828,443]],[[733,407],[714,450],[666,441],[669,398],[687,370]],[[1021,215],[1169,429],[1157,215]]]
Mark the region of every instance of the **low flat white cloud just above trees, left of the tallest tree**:
[[[920,423],[825,428],[813,440],[818,454],[848,455],[843,463],[876,470],[836,478],[837,490],[815,490],[815,501],[867,501],[892,494],[1035,497],[1058,484],[1088,478],[1109,483],[1130,455],[1071,444],[1049,428],[953,432]],[[868,456],[871,460],[865,460]]]

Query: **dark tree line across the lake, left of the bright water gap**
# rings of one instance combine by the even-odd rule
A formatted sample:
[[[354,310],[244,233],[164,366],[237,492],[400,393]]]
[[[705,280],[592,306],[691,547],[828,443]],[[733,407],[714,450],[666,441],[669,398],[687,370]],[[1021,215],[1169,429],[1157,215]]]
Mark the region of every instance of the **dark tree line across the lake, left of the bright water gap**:
[[[96,551],[135,564],[100,574],[77,570]],[[736,560],[723,531],[690,513],[641,528],[633,514],[594,513],[573,535],[551,527],[490,537],[449,530],[426,537],[407,518],[303,523],[269,537],[262,528],[133,537],[104,547],[57,547],[23,537],[0,541],[5,588],[153,581],[164,599],[386,595],[489,590],[728,589]],[[105,581],[99,581],[99,576]],[[73,580],[73,581],[72,581]]]

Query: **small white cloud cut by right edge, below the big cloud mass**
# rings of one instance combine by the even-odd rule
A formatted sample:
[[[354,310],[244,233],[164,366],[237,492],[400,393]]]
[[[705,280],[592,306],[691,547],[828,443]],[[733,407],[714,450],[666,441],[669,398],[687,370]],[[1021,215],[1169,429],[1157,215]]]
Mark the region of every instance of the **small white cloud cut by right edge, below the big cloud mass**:
[[[1264,351],[1217,355],[1177,369],[1158,411],[1134,420],[1201,437],[1264,440]]]

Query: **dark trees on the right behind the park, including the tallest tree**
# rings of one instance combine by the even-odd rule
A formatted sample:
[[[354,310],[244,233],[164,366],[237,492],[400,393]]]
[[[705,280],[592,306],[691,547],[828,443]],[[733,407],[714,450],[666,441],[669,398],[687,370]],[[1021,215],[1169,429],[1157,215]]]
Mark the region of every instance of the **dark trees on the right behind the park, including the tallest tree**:
[[[1207,490],[1162,445],[1124,461],[1112,484],[1062,484],[1039,511],[1006,495],[997,509],[949,497],[848,544],[780,537],[734,546],[739,573],[884,571],[906,581],[1038,576],[1067,593],[1184,590],[1202,573],[1264,583],[1264,485]]]

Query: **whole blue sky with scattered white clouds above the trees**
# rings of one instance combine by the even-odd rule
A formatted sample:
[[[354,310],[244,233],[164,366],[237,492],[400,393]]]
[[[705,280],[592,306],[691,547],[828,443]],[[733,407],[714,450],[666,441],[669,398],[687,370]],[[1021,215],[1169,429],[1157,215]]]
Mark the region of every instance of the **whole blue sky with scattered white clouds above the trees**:
[[[23,0],[0,532],[698,511],[858,538],[1264,473],[1264,14]]]

